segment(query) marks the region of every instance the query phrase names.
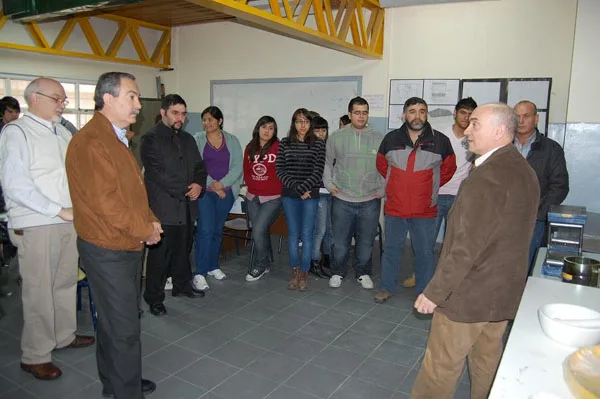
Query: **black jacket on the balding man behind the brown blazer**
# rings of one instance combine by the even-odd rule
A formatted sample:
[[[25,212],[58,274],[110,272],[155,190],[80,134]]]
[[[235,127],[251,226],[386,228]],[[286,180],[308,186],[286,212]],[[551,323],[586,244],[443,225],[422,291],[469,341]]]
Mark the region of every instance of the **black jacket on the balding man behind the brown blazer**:
[[[546,220],[550,205],[560,205],[569,194],[569,172],[560,144],[537,130],[535,136],[535,141],[531,143],[531,151],[527,155],[527,162],[540,182],[537,218]]]

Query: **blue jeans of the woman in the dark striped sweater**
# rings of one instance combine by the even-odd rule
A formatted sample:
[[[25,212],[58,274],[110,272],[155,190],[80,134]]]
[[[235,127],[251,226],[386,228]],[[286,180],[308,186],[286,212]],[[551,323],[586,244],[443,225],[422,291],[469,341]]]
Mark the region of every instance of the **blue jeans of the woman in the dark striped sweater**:
[[[300,199],[281,197],[285,222],[288,225],[290,266],[302,271],[310,269],[312,255],[312,232],[315,228],[318,198]],[[300,261],[299,240],[302,240],[302,261]]]

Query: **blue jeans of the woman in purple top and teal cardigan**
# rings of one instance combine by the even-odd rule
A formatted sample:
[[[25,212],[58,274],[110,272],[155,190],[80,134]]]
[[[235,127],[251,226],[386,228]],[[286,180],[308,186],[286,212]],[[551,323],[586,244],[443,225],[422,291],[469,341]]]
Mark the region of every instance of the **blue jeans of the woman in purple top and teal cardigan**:
[[[224,199],[208,191],[198,199],[198,222],[196,230],[196,272],[206,276],[219,268],[219,250],[223,226],[235,201],[231,190]]]

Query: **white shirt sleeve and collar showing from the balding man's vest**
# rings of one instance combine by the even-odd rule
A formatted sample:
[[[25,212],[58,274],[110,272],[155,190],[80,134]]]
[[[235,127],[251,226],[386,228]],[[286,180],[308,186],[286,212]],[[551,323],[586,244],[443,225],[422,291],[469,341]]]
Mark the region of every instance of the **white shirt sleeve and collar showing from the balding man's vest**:
[[[56,124],[26,112],[23,118],[31,118],[56,134]],[[15,133],[6,134],[15,130]],[[1,179],[4,195],[44,216],[55,217],[62,205],[52,201],[36,186],[29,171],[29,147],[21,129],[8,125],[4,128],[3,146],[0,148]],[[8,192],[8,194],[7,194]]]

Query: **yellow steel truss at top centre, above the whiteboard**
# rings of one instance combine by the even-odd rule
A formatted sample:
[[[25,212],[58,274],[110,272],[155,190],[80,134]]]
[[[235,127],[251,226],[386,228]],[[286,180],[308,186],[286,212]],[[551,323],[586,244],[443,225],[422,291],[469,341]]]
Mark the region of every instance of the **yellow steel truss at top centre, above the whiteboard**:
[[[377,59],[383,55],[385,11],[379,0],[341,0],[335,17],[331,0],[268,0],[268,9],[253,6],[248,0],[187,1],[319,46],[363,58]],[[307,24],[311,9],[316,29]],[[350,40],[347,40],[348,32]]]

